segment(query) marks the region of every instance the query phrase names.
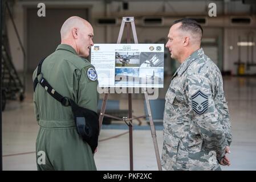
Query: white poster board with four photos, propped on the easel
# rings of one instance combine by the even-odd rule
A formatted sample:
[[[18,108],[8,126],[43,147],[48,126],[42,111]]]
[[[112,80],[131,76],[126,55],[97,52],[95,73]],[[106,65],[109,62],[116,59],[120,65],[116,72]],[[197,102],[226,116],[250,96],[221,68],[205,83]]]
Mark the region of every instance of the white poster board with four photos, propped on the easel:
[[[164,87],[164,44],[94,44],[100,87]]]

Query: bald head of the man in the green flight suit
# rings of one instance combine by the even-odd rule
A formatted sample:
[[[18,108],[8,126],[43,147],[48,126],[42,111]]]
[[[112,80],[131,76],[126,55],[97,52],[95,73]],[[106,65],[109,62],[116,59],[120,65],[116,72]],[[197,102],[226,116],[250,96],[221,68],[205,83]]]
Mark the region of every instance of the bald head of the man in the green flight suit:
[[[94,29],[87,20],[79,16],[71,16],[60,29],[62,44],[73,47],[79,56],[87,57],[91,46],[94,45]]]

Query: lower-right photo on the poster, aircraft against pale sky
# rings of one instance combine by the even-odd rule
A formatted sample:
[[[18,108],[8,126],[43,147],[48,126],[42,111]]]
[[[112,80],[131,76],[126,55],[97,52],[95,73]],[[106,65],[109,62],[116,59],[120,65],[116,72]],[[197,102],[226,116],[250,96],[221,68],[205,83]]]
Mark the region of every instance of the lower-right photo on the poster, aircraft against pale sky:
[[[164,68],[140,68],[140,84],[164,84]]]

